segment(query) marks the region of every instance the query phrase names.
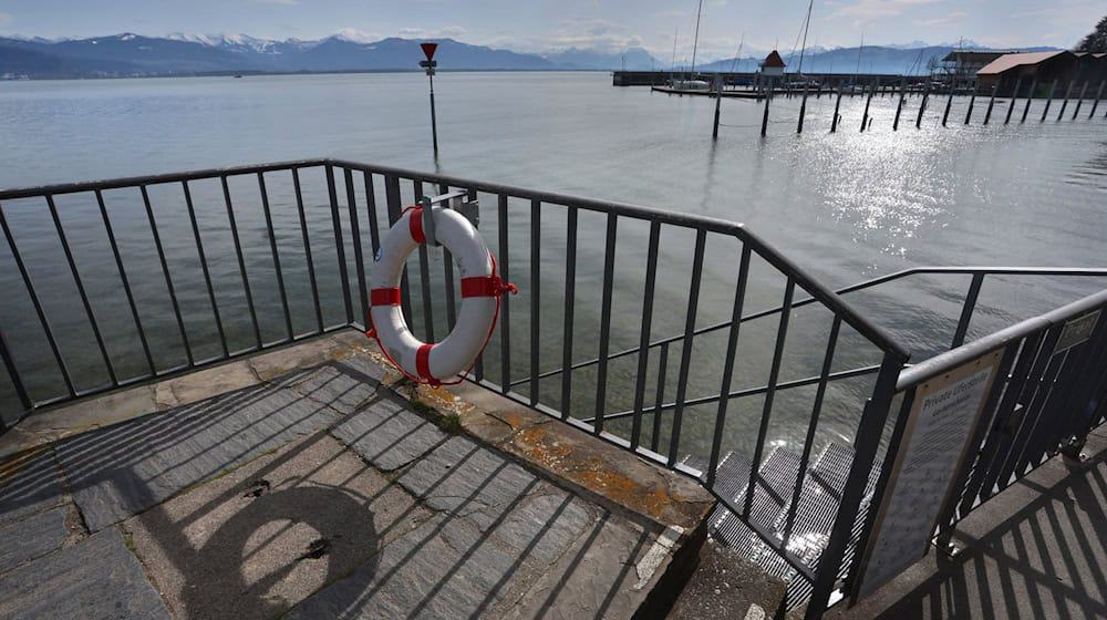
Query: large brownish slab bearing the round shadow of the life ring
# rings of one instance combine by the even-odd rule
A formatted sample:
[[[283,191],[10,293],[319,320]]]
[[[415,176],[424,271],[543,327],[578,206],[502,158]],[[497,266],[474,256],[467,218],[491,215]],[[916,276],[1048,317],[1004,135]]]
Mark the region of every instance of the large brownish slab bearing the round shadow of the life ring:
[[[178,620],[263,619],[359,567],[371,569],[379,548],[430,516],[319,433],[128,519],[123,529]],[[318,540],[328,549],[310,557]]]

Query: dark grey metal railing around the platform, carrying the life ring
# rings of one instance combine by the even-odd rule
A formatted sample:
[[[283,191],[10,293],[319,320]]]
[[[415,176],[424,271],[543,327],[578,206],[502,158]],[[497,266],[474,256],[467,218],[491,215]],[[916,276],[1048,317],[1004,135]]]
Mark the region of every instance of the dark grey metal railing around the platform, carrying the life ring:
[[[875,466],[887,465],[878,462],[881,451],[893,447],[884,430],[904,390],[902,378],[933,363],[901,374],[908,350],[842,296],[911,276],[970,275],[951,340],[958,352],[965,349],[959,347],[985,277],[1107,276],[917,268],[832,291],[730,221],[341,159],[3,190],[0,228],[14,266],[0,271],[0,286],[13,291],[0,306],[0,358],[11,394],[0,414],[15,410],[6,428],[83,396],[351,327],[363,330],[366,277],[384,231],[425,192],[458,190],[484,205],[480,228],[495,239],[501,277],[523,285],[518,299],[503,300],[496,333],[467,379],[699,479],[810,582],[813,617],[851,566],[847,547],[857,542],[867,480]],[[21,229],[32,234],[21,236]],[[637,237],[620,244],[628,230]],[[679,242],[670,242],[674,237]],[[91,256],[97,250],[102,256]],[[434,341],[454,328],[459,289],[447,251],[421,246],[401,290],[416,337]],[[769,299],[780,301],[747,311]],[[823,319],[816,327],[803,323],[800,309],[818,310]],[[748,329],[762,319],[774,324]],[[702,326],[704,320],[710,322]],[[725,338],[714,338],[724,331]],[[764,342],[739,347],[739,339],[762,337]],[[787,375],[796,350],[789,338],[804,341],[799,350],[815,374]],[[836,370],[841,360],[848,368]],[[758,376],[764,379],[734,386]],[[855,388],[857,402],[831,393],[856,381],[867,382]],[[796,423],[800,463],[782,537],[752,517],[758,465],[775,436],[780,399],[804,389],[814,394]],[[761,399],[759,406],[728,416],[732,401],[749,396]],[[620,399],[625,406],[612,406]],[[697,411],[705,405],[713,411]],[[852,464],[828,542],[817,564],[808,564],[789,550],[790,524],[828,406],[860,415],[839,432],[852,438]],[[734,432],[736,421],[746,433]],[[716,471],[724,453],[737,450],[738,435],[752,440],[752,466],[735,496],[723,490],[734,480],[717,480]],[[682,463],[697,450],[705,456],[702,471]],[[1036,454],[1023,452],[1030,461]],[[977,482],[983,489],[989,479]]]

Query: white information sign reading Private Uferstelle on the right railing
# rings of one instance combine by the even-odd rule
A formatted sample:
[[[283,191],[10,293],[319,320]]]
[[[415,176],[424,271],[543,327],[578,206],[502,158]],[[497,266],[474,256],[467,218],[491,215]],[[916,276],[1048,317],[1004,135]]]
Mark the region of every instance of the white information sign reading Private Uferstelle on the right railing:
[[[979,424],[1002,351],[923,383],[915,390],[903,440],[873,533],[861,558],[853,600],[927,554],[969,440]]]

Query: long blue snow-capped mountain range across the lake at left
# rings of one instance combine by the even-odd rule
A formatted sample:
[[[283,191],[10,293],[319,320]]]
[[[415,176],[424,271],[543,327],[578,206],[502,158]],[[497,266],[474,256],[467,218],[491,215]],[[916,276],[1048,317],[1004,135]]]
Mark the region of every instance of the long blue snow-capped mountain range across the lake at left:
[[[164,38],[125,32],[49,41],[0,38],[0,76],[95,78],[236,72],[418,71],[425,40],[364,41],[337,34],[314,41],[273,41],[245,34],[176,33]],[[547,56],[436,39],[439,70],[649,70],[641,48],[623,53],[569,49]]]

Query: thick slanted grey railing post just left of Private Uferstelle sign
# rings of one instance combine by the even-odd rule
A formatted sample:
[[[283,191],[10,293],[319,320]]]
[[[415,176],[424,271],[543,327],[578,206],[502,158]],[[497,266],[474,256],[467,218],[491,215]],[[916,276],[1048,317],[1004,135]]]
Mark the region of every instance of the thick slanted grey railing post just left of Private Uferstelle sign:
[[[857,426],[853,461],[850,464],[849,476],[846,478],[846,486],[841,493],[841,503],[838,505],[834,528],[830,530],[827,547],[819,558],[818,575],[813,583],[811,598],[804,616],[805,620],[818,620],[823,617],[827,603],[830,601],[830,593],[838,581],[838,574],[841,570],[841,562],[850,541],[853,524],[857,520],[861,500],[865,498],[866,483],[872,471],[872,464],[880,447],[880,437],[888,422],[889,409],[896,395],[896,381],[903,369],[904,361],[891,353],[884,353],[883,361],[880,363],[872,396],[866,404]],[[858,548],[865,548],[869,534],[871,534],[869,530],[862,531]]]

